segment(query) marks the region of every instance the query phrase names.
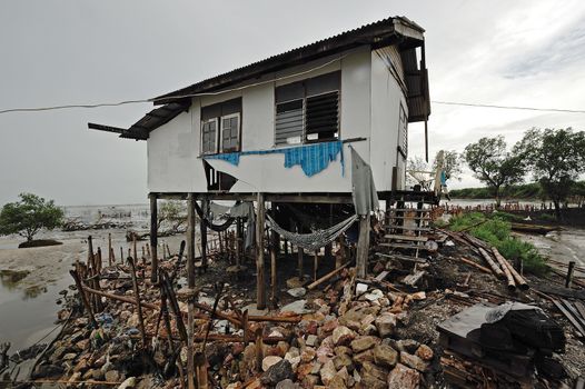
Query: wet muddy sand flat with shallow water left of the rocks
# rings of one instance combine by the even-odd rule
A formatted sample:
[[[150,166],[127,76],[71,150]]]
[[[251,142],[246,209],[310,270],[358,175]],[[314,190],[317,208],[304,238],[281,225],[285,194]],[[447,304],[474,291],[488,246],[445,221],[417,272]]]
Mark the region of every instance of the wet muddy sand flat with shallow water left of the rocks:
[[[39,239],[56,239],[63,245],[18,249],[22,241],[19,237],[0,238],[0,341],[10,341],[9,353],[32,346],[54,328],[60,306],[59,292],[66,290],[73,281],[69,275],[77,260],[87,259],[87,237],[93,238],[93,248],[108,248],[108,233],[112,235],[112,247],[116,260],[120,261],[120,247],[125,256],[131,243],[126,241],[126,230],[92,231],[47,231]],[[159,238],[168,243],[171,252],[177,252],[182,235]],[[141,246],[138,242],[138,256]],[[160,249],[159,249],[160,251]],[[159,255],[162,257],[162,255]],[[103,260],[107,261],[107,255]],[[50,338],[43,340],[50,341]]]

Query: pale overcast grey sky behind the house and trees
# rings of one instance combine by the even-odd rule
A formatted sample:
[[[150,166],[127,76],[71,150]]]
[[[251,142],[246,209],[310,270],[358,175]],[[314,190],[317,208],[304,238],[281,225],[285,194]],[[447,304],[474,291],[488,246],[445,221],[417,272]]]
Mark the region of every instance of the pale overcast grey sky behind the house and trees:
[[[0,110],[145,99],[376,21],[426,29],[432,100],[585,109],[583,1],[0,2]],[[31,191],[60,205],[146,202],[151,104],[0,114],[0,205]],[[432,106],[430,154],[532,127],[585,128],[583,113]],[[410,153],[423,154],[420,126]],[[469,173],[452,187],[478,186]]]

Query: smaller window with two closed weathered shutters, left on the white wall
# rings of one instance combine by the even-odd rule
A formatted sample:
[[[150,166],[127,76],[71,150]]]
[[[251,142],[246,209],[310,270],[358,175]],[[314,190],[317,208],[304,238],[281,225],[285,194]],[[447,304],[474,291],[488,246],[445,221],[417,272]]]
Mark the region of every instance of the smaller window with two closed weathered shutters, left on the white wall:
[[[201,107],[201,153],[240,150],[241,98]]]

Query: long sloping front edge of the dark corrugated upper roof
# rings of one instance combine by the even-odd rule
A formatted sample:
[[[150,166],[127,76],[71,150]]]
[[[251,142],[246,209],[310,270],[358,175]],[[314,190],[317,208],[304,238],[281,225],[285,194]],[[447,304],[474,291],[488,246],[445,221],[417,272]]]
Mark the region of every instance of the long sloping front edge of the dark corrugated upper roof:
[[[161,94],[152,100],[155,106],[158,106],[178,101],[180,99],[188,99],[189,94],[217,90],[221,87],[231,86],[254,77],[298,64],[297,62],[300,61],[314,60],[335,53],[336,50],[338,52],[360,44],[367,44],[367,42],[363,42],[360,39],[373,39],[377,34],[399,33],[405,38],[423,40],[424,31],[425,30],[420,26],[408,18],[389,17],[289,51],[285,51],[280,54],[268,57],[264,60],[252,62],[226,73],[208,78],[186,88]],[[348,41],[344,41],[344,39],[347,39]]]

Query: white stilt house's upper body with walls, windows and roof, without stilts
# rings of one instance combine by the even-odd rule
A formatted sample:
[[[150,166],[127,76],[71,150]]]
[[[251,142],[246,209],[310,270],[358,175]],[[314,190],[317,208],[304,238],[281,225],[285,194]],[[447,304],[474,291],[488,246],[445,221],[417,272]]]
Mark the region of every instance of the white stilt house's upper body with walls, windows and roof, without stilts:
[[[160,197],[349,194],[353,147],[384,199],[405,189],[408,123],[430,112],[423,32],[387,18],[157,97],[160,108],[113,130],[147,141]]]

